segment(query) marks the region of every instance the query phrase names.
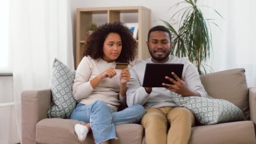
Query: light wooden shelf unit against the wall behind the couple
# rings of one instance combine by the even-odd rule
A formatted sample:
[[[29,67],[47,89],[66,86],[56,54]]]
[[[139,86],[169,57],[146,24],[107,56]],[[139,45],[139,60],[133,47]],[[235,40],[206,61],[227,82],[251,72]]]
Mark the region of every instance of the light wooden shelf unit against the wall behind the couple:
[[[139,30],[138,30],[138,56],[137,59],[144,60],[150,57],[147,49],[147,33],[151,28],[151,10],[142,6],[125,6],[125,7],[98,7],[98,8],[77,8],[76,13],[76,60],[77,68],[83,59],[81,47],[88,33],[88,26],[93,22],[93,14],[105,14],[107,21],[120,21],[120,13],[137,13]],[[121,21],[122,22],[122,21]],[[133,23],[133,22],[132,22]]]

